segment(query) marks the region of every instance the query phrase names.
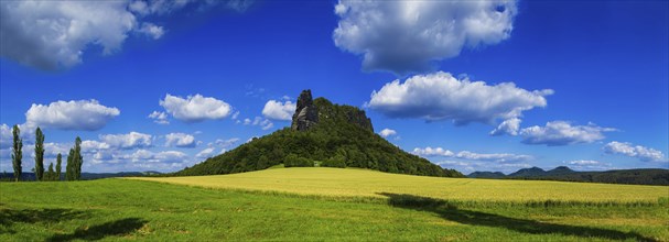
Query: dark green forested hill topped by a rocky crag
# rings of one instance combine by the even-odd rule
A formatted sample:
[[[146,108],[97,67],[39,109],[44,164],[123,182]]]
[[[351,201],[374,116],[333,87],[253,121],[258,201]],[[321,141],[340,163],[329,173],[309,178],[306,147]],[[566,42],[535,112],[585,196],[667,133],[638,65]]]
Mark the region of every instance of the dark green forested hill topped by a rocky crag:
[[[291,128],[240,145],[171,175],[194,176],[242,173],[284,164],[291,166],[359,167],[388,173],[464,177],[425,158],[407,153],[374,133],[365,111],[311,99],[303,91]]]

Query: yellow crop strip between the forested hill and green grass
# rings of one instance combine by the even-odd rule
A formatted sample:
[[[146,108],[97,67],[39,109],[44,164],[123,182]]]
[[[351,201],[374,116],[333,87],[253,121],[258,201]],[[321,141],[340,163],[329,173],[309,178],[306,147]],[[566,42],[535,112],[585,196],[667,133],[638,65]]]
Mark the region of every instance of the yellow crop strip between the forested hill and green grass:
[[[474,202],[614,202],[635,204],[667,200],[669,187],[441,178],[389,174],[355,168],[293,167],[216,176],[137,177],[131,179],[299,195],[377,197],[408,194],[421,197]]]

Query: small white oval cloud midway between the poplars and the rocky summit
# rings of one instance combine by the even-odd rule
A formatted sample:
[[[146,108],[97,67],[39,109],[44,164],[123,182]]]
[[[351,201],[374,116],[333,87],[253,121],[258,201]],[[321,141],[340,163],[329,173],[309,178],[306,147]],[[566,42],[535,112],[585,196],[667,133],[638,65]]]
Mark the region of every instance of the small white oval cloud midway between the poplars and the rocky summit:
[[[163,100],[160,100],[160,106],[175,119],[188,123],[224,119],[233,110],[233,107],[225,101],[202,95],[188,96],[184,99],[168,94]]]

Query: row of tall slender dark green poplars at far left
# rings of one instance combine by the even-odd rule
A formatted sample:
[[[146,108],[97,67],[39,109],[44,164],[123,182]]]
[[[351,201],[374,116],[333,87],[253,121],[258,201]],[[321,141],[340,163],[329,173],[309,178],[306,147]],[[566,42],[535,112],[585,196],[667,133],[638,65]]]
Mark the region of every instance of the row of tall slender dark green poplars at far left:
[[[21,174],[23,173],[23,139],[21,139],[21,129],[19,125],[12,128],[12,167],[14,169],[14,182],[21,180]],[[44,133],[42,129],[37,127],[35,130],[35,179],[37,182],[54,182],[61,180],[61,168],[63,155],[58,153],[56,155],[56,166],[54,169],[53,163],[48,164],[46,173],[44,172]],[[67,155],[67,165],[65,167],[65,180],[79,180],[82,179],[82,165],[84,158],[82,157],[82,139],[76,138],[74,146],[69,148]]]

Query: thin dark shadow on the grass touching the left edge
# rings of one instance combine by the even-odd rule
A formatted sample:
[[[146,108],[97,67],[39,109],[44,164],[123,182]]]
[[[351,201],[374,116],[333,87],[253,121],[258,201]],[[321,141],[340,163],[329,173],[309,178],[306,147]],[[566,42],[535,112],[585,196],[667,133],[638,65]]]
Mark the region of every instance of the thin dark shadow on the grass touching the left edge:
[[[0,233],[15,233],[12,224],[58,222],[88,217],[88,213],[72,209],[0,209]]]

